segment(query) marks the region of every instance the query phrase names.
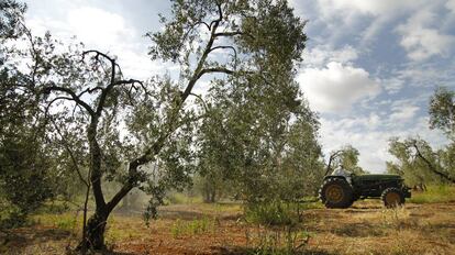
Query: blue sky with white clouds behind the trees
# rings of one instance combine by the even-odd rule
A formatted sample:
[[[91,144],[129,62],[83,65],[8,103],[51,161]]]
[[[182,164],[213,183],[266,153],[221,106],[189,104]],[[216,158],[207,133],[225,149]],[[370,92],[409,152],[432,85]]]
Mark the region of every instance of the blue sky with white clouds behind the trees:
[[[27,0],[26,23],[63,41],[118,56],[126,76],[146,79],[176,69],[152,62],[146,32],[160,29],[169,1]],[[448,143],[429,129],[429,100],[455,89],[455,0],[289,0],[309,37],[297,80],[320,117],[323,152],[356,147],[359,165],[386,170],[392,136]],[[203,86],[203,85],[200,85]],[[199,88],[201,89],[201,88]]]

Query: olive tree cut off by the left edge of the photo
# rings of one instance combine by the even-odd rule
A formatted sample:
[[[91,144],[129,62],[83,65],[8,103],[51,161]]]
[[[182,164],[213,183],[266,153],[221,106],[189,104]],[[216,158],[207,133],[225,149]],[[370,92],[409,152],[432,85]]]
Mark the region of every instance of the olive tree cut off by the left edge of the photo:
[[[23,34],[25,9],[15,1],[0,1],[0,197],[5,202],[0,223],[7,228],[24,223],[29,213],[58,192],[49,144],[34,118],[38,106],[30,91],[13,89],[25,76],[9,62],[11,51],[4,45]]]

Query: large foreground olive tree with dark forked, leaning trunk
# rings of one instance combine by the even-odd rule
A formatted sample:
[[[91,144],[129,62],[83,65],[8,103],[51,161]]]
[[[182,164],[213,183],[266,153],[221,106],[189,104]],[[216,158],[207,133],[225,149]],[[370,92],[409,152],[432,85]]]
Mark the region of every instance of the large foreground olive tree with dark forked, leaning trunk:
[[[156,212],[167,188],[189,181],[193,123],[204,118],[192,100],[200,80],[274,91],[289,80],[306,41],[304,22],[282,0],[177,0],[162,21],[163,30],[147,33],[149,55],[178,65],[177,80],[125,78],[113,55],[81,44],[65,47],[49,34],[36,37],[27,30],[29,47],[12,59],[29,63],[26,71],[16,70],[24,78],[15,89],[35,96],[34,118],[45,120],[51,137],[71,141],[64,146],[69,162],[92,191],[96,208],[82,247],[104,246],[108,217],[133,188],[153,195],[149,211]],[[109,181],[121,188],[107,197]]]

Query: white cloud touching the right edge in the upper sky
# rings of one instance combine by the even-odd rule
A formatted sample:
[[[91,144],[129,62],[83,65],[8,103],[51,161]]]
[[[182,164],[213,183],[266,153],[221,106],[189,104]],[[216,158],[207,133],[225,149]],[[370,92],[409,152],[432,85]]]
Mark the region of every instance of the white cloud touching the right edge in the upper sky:
[[[423,9],[397,26],[397,32],[401,35],[400,45],[408,52],[410,59],[421,62],[451,53],[455,36],[432,29],[431,24],[439,20],[436,18],[435,13]]]

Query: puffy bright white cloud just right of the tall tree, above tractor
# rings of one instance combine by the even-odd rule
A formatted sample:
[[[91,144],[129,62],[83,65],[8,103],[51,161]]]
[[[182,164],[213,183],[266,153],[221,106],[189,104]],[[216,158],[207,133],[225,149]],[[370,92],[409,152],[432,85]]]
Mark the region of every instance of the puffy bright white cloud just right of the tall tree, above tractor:
[[[312,109],[320,112],[348,110],[352,104],[374,98],[381,90],[366,70],[336,62],[322,69],[303,69],[298,81]]]

